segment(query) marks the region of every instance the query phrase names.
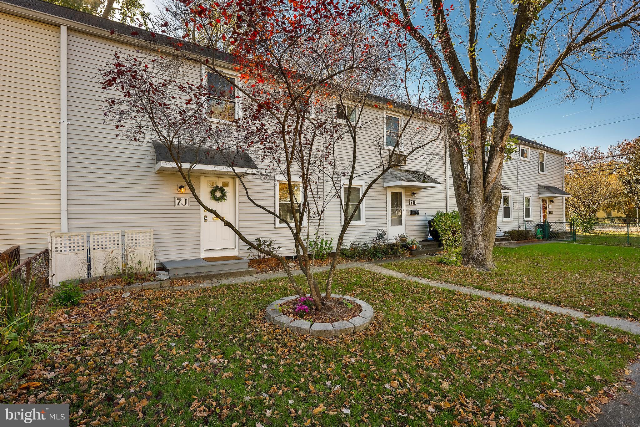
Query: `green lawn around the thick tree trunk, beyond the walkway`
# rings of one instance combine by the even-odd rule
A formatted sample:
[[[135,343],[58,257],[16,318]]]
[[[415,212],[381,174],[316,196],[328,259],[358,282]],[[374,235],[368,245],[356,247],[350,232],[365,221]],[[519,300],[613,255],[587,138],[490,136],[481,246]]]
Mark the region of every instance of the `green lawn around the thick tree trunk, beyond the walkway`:
[[[478,272],[433,260],[386,268],[486,291],[520,296],[593,314],[640,319],[640,249],[547,243],[495,248],[497,268]]]

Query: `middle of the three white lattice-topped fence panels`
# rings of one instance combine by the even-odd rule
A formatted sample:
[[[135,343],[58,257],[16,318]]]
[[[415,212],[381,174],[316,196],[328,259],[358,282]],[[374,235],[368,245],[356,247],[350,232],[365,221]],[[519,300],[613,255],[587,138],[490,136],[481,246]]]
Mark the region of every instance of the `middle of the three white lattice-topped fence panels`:
[[[122,271],[122,232],[92,231],[89,241],[91,277],[119,274]]]

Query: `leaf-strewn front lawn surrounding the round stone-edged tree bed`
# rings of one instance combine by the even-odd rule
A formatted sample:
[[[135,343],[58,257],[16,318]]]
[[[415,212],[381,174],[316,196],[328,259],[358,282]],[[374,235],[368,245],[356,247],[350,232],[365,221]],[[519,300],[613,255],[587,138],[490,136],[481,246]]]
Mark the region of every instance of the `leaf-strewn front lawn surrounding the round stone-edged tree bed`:
[[[365,270],[339,271],[335,292],[371,303],[372,326],[276,329],[264,308],[292,294],[283,280],[93,294],[54,314],[60,347],[2,403],[68,402],[86,426],[542,427],[586,419],[639,357],[610,328]]]

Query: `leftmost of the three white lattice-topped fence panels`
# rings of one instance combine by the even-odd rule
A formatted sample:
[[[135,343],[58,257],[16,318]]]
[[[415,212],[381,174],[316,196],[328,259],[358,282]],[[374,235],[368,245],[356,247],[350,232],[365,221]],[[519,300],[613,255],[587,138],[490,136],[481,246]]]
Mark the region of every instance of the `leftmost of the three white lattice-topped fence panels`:
[[[57,286],[68,279],[86,278],[86,232],[49,233],[51,284]]]

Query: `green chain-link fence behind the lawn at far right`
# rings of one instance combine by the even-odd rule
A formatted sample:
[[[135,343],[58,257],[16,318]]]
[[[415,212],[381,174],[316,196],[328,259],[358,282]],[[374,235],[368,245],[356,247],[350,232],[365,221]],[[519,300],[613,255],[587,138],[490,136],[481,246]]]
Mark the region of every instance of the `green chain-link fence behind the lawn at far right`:
[[[589,245],[640,246],[640,224],[635,218],[628,222],[532,222],[524,229],[539,239],[570,241]]]

